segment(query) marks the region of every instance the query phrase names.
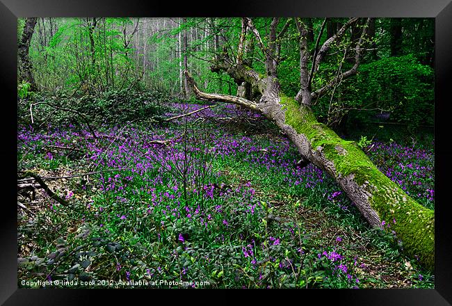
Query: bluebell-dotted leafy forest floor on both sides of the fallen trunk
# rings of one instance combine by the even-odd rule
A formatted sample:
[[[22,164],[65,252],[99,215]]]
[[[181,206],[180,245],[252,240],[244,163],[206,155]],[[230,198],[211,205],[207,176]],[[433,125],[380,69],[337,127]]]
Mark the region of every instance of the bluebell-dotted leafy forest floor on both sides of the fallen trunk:
[[[42,189],[18,193],[19,287],[433,288],[401,241],[302,167],[289,140],[232,133],[206,115],[237,117],[208,108],[186,124],[103,127],[96,138],[20,127],[19,172],[66,177],[45,182],[72,206]],[[433,149],[366,150],[433,209]],[[81,173],[92,174],[72,177]]]

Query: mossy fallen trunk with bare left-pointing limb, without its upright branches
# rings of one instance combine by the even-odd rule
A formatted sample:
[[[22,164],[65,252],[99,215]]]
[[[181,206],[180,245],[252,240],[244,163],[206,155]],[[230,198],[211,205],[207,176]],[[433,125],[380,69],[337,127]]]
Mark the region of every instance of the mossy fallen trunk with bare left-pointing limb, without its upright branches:
[[[281,95],[277,80],[267,79],[259,102],[241,97],[200,92],[188,72],[186,78],[198,99],[239,104],[273,121],[296,145],[304,159],[336,180],[370,225],[395,231],[403,250],[433,271],[434,211],[412,200],[396,183],[376,168],[353,141],[337,136],[318,122],[309,106]],[[233,99],[232,99],[233,98]],[[385,221],[385,222],[383,222]],[[390,228],[383,226],[390,225]]]

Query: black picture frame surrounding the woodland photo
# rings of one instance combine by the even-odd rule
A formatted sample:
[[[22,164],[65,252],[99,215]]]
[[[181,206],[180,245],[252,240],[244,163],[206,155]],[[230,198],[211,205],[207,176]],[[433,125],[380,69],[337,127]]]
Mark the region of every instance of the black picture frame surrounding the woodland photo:
[[[17,17],[433,17],[435,18],[435,289],[330,289],[330,290],[185,290],[118,291],[108,289],[17,289],[17,211],[15,182],[17,147]],[[0,305],[103,305],[136,303],[258,303],[274,298],[276,303],[344,304],[344,305],[452,305],[452,234],[449,220],[451,161],[449,121],[451,102],[449,77],[452,67],[451,0],[315,0],[315,1],[227,1],[175,3],[172,1],[74,1],[74,0],[0,0],[0,83],[3,99],[0,122],[3,150],[1,177],[3,211],[0,221]],[[449,141],[448,141],[449,140]],[[11,161],[10,161],[11,160]],[[169,293],[169,294],[168,294]],[[158,297],[157,297],[158,296]],[[161,300],[160,298],[163,298]],[[309,298],[309,299],[308,299]],[[176,301],[177,300],[177,301]],[[310,300],[310,301],[309,301]],[[99,303],[99,302],[97,302]]]

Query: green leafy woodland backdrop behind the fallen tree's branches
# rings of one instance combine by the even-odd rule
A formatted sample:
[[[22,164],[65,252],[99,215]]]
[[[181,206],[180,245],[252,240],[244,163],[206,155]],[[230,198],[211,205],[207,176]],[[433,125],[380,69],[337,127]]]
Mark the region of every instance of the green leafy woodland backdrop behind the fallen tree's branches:
[[[225,73],[213,73],[211,59],[226,48],[234,61],[241,33],[240,18],[134,19],[100,18],[91,29],[92,18],[54,18],[38,22],[31,44],[33,72],[40,90],[82,90],[89,95],[122,90],[131,84],[140,89],[166,91],[181,97],[183,58],[188,57],[200,90],[235,95],[237,85]],[[288,19],[282,18],[277,31]],[[357,76],[341,84],[314,102],[314,113],[320,122],[332,127],[348,122],[378,120],[381,110],[390,113],[389,120],[409,124],[410,131],[419,125],[433,124],[433,19],[401,19],[403,28],[401,56],[391,57],[391,19],[376,19],[375,35],[369,37]],[[252,18],[268,44],[269,18]],[[307,42],[313,53],[323,18],[302,19],[312,26],[314,39]],[[345,18],[327,20],[320,45],[332,35]],[[24,20],[18,20],[18,34]],[[47,29],[41,29],[42,27]],[[138,31],[134,33],[135,27]],[[356,29],[355,29],[356,28]],[[151,29],[151,30],[150,30]],[[353,65],[354,35],[358,27],[346,31],[343,39],[332,45],[312,79],[316,90],[329,83],[338,67],[344,72]],[[188,49],[181,49],[181,35],[188,35]],[[91,41],[92,40],[92,41]],[[127,43],[130,40],[129,43]],[[278,77],[282,92],[295,96],[300,88],[299,33],[291,20],[281,44]],[[255,35],[246,34],[244,61],[261,76],[266,73],[264,54]],[[345,49],[349,51],[344,54]],[[375,50],[373,50],[375,49]],[[312,65],[309,58],[308,70]],[[364,110],[364,111],[362,111]],[[427,114],[427,115],[426,115]]]

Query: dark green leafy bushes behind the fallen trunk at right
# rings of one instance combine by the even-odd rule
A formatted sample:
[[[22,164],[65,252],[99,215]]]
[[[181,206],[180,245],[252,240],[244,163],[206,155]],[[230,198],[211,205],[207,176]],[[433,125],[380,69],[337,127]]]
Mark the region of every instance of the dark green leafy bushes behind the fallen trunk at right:
[[[318,99],[314,112],[323,122],[399,122],[413,132],[433,125],[433,75],[412,54],[363,63],[333,97],[330,92]]]

